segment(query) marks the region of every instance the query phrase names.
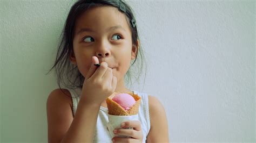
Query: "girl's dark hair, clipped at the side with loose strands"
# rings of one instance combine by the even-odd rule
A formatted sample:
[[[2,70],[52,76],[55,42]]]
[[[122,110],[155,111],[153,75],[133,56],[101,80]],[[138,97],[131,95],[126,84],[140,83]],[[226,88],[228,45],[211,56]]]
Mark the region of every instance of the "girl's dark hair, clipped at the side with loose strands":
[[[122,5],[122,7],[119,7],[120,5]],[[128,23],[132,33],[132,44],[136,46],[137,40],[139,40],[137,25],[134,26],[133,25],[134,23],[133,24],[131,23],[132,19],[135,20],[133,11],[130,8],[130,6],[127,5],[124,1],[122,0],[98,0],[98,1],[97,0],[95,1],[79,0],[77,1],[75,4],[72,5],[69,11],[69,15],[66,19],[65,26],[63,28],[62,34],[60,35],[60,42],[58,45],[58,52],[57,52],[55,63],[48,72],[50,73],[50,71],[53,68],[55,68],[57,83],[60,89],[62,89],[60,87],[61,83],[64,85],[64,87],[70,88],[70,89],[76,89],[76,88],[82,89],[83,87],[84,76],[80,74],[77,66],[71,63],[69,56],[73,54],[73,38],[74,38],[75,24],[77,22],[77,19],[80,16],[82,16],[82,14],[86,12],[86,10],[93,8],[95,6],[113,6],[119,9],[121,12],[125,13],[126,19],[129,20]],[[125,10],[123,11],[122,9],[124,8]],[[139,72],[134,73],[138,75],[137,81],[139,80],[140,74],[142,73],[143,61],[145,62],[145,60],[143,60],[144,54],[143,54],[143,49],[141,47],[142,47],[141,45],[139,47],[136,46],[137,48],[136,59],[130,66],[131,68],[136,62],[137,57],[140,57],[141,64],[137,66]],[[130,85],[131,85],[130,68],[126,73],[126,76],[129,78]],[[126,78],[125,78],[125,81],[127,81]],[[145,78],[144,78],[144,82],[145,82]]]

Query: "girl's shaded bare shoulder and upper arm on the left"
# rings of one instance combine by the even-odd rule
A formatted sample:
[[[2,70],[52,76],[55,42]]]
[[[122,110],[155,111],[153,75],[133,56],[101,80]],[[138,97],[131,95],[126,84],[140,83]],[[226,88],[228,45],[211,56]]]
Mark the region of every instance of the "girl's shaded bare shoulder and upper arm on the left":
[[[72,115],[72,99],[66,89],[52,90],[46,103],[48,120],[48,141],[59,142],[70,127]]]

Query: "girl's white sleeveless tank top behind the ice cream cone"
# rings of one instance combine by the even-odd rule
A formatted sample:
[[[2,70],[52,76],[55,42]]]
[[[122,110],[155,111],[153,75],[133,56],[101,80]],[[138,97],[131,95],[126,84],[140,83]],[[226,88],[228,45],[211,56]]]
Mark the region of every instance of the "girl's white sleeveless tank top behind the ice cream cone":
[[[79,103],[81,89],[75,89],[75,90],[68,89],[68,90],[72,97],[73,116],[75,116],[77,105]],[[133,91],[133,94],[137,94],[138,96],[141,97],[138,117],[139,117],[140,123],[142,124],[143,142],[146,142],[147,134],[149,134],[149,131],[150,131],[149,99],[147,94],[145,93]],[[106,128],[106,124],[108,122],[109,120],[107,118],[107,108],[100,106],[93,142],[112,142],[111,135],[109,134]]]

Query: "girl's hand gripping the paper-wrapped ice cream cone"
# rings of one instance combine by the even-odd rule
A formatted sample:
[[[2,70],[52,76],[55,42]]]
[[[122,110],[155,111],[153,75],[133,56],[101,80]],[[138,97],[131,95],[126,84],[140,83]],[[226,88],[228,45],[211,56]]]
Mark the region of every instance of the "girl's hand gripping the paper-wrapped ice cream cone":
[[[123,126],[124,124],[124,126]],[[142,142],[143,141],[143,133],[142,133],[142,125],[138,120],[129,120],[125,121],[121,124],[121,127],[133,127],[133,129],[115,129],[113,131],[114,134],[117,135],[126,135],[131,138],[112,138],[113,142]]]

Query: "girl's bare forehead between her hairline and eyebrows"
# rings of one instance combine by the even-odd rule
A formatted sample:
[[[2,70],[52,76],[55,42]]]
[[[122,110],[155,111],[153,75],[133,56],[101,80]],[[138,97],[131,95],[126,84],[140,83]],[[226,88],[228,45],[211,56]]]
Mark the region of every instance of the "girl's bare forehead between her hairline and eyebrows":
[[[119,26],[130,31],[129,24],[124,13],[113,6],[97,6],[86,10],[76,22],[76,34],[83,28],[90,28],[92,31],[106,30],[113,26]]]

